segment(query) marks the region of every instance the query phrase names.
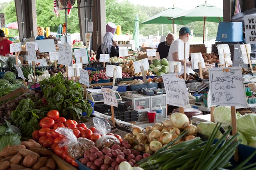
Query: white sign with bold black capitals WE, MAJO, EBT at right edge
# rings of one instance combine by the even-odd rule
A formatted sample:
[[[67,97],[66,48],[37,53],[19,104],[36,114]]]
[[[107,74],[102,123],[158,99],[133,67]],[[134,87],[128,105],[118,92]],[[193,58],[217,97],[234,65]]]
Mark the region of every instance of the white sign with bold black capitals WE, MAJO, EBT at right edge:
[[[256,44],[256,16],[247,15],[244,16],[244,32],[246,43]]]

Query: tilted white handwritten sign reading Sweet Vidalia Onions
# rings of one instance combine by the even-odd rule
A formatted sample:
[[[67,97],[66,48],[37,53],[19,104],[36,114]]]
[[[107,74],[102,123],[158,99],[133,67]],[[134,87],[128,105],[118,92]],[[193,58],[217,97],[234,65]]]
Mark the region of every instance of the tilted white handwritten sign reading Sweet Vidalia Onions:
[[[186,84],[176,74],[162,75],[167,95],[167,104],[177,107],[190,107]]]

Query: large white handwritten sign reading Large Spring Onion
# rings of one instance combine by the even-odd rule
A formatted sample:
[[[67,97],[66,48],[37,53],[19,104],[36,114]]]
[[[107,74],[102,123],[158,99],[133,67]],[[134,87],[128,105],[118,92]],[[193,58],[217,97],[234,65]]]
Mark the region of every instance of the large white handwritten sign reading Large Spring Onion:
[[[208,71],[212,105],[247,108],[240,67],[209,68]]]

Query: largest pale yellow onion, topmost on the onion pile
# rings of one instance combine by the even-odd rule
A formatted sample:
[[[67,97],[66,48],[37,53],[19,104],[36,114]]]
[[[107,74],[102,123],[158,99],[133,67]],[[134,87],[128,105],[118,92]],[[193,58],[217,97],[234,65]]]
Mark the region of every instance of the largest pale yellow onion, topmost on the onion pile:
[[[170,119],[172,124],[179,129],[185,129],[189,125],[188,117],[183,113],[172,113]]]

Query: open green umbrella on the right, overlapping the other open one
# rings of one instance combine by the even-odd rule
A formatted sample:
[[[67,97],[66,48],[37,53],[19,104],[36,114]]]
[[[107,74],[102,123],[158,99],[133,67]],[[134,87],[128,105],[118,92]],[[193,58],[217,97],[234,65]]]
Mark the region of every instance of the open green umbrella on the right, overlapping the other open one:
[[[172,18],[172,20],[189,20],[189,21],[205,21],[208,22],[221,22],[223,21],[223,10],[207,4],[201,4],[196,8],[183,12]],[[204,31],[203,31],[203,43],[204,43]]]

